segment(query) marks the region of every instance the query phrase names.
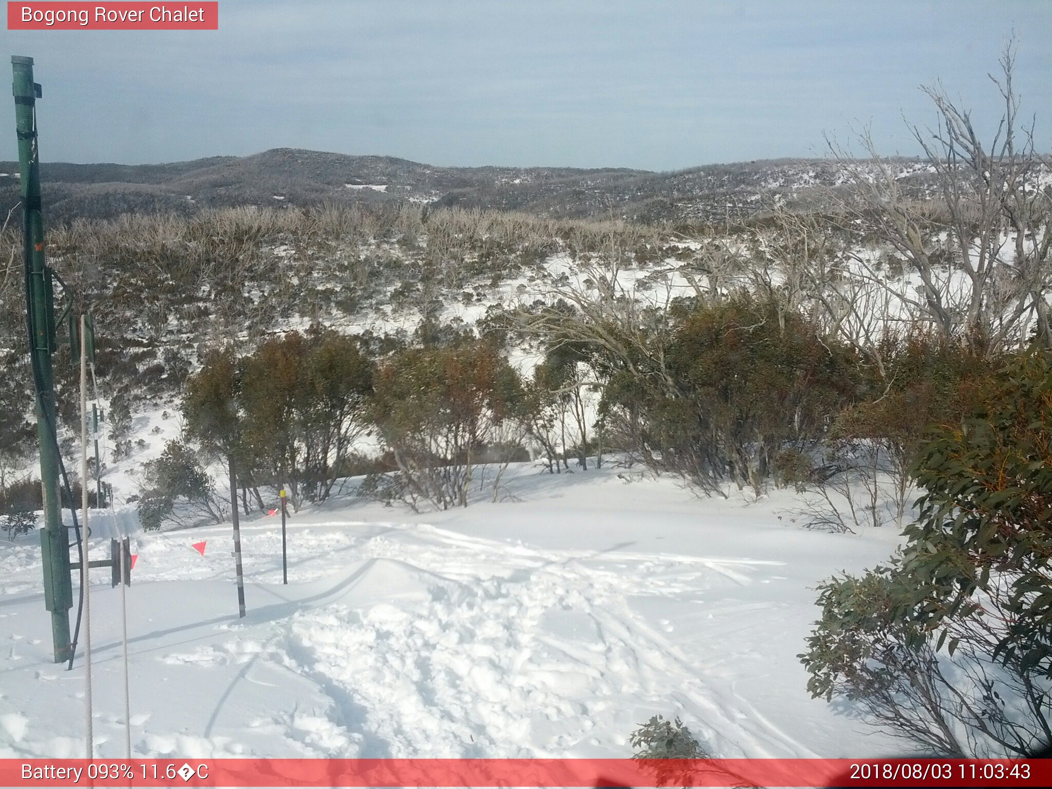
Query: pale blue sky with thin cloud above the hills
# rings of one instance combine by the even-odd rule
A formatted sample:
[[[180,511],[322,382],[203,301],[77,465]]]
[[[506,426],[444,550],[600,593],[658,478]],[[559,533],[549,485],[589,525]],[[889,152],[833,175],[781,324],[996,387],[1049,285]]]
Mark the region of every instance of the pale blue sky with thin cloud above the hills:
[[[5,4],[4,4],[5,5]],[[190,3],[193,5],[193,3]],[[36,61],[43,161],[272,147],[445,166],[635,167],[821,157],[870,126],[914,155],[942,80],[991,133],[988,73],[1052,150],[1045,0],[220,0],[219,31],[7,31]],[[6,14],[4,9],[2,13]],[[2,134],[8,129],[8,134]],[[0,98],[0,159],[16,158]]]

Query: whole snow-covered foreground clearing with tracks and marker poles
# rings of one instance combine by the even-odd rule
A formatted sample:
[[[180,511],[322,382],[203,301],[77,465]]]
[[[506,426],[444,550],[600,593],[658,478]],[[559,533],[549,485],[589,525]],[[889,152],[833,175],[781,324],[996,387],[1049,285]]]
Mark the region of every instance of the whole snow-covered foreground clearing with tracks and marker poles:
[[[342,498],[143,534],[128,589],[137,755],[627,756],[652,714],[721,756],[901,750],[808,697],[814,585],[886,559],[792,494],[697,499],[668,479],[513,466],[505,501],[413,514]],[[206,541],[200,555],[191,543]],[[103,553],[101,545],[95,555]],[[120,593],[93,585],[97,755],[122,755]],[[52,662],[36,535],[0,543],[0,756],[79,756],[83,665]]]

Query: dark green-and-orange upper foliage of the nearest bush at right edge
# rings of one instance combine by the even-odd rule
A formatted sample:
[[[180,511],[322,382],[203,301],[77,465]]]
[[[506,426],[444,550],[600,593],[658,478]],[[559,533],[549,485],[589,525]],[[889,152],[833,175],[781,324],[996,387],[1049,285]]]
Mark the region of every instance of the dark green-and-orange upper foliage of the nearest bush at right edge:
[[[1052,676],[1052,352],[1024,355],[998,378],[985,405],[920,454],[926,492],[905,566],[933,580],[943,606],[931,626],[993,606],[1012,622],[998,655]]]

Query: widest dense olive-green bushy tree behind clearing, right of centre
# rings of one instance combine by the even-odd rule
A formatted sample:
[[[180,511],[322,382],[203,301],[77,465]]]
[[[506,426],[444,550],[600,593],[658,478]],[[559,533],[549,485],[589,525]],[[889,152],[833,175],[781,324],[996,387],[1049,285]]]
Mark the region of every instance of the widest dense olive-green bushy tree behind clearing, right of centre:
[[[821,439],[855,392],[850,352],[798,312],[748,294],[673,310],[670,337],[646,346],[632,375],[611,366],[604,407],[643,460],[706,492],[727,479],[763,491],[777,454]]]

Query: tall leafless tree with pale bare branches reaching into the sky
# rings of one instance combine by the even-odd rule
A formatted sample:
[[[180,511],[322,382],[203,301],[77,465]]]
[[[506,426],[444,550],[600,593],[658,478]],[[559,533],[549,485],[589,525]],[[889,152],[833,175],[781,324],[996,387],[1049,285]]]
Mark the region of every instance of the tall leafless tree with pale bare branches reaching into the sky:
[[[845,184],[829,198],[844,227],[862,229],[908,277],[888,277],[870,249],[849,252],[852,279],[883,290],[911,319],[946,340],[996,353],[1033,337],[1052,345],[1052,193],[1043,185],[1048,157],[1035,148],[1033,124],[1019,115],[1013,83],[1014,43],[991,80],[1003,112],[983,139],[972,113],[942,85],[924,88],[937,113],[934,128],[911,125],[931,174],[927,194],[911,191],[899,168],[882,158],[868,133],[868,159],[835,144]],[[835,292],[830,281],[815,290]],[[839,294],[835,294],[837,297]]]

